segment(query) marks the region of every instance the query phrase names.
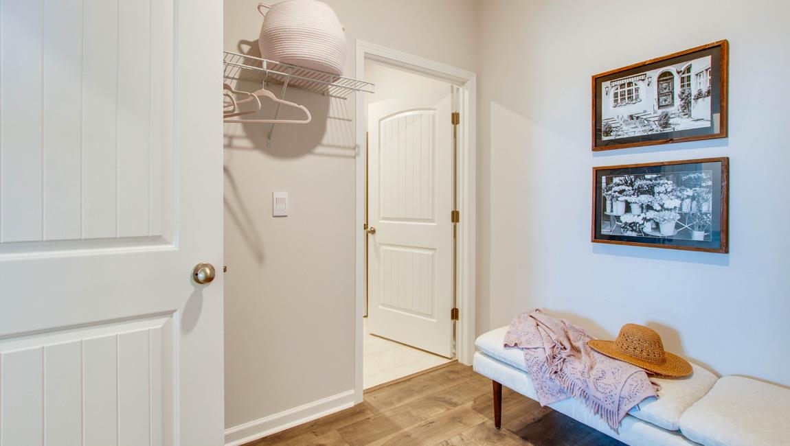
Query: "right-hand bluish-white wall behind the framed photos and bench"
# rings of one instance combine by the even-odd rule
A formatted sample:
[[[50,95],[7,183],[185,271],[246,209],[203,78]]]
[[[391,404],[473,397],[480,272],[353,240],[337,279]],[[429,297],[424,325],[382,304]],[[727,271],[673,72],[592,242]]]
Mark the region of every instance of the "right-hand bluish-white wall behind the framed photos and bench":
[[[616,19],[615,19],[616,17]],[[545,307],[790,384],[790,3],[497,1],[480,11],[478,331]],[[728,39],[727,139],[590,151],[590,77]],[[593,166],[730,157],[730,253],[597,245]]]

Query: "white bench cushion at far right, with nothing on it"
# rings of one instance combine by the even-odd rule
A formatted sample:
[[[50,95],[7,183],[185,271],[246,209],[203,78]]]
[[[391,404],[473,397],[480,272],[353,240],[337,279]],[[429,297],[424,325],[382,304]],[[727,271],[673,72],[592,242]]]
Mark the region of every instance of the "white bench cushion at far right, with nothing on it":
[[[790,389],[723,377],[680,417],[683,435],[707,446],[790,444]]]

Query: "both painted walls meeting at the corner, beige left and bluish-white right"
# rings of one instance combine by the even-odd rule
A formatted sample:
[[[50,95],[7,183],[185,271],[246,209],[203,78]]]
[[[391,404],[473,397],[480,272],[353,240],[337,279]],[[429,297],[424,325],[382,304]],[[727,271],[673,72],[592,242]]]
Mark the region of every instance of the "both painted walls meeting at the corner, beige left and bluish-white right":
[[[790,384],[790,207],[774,205],[787,202],[790,164],[790,91],[775,87],[790,69],[788,4],[328,3],[346,27],[349,75],[355,39],[478,73],[478,332],[536,306],[608,338],[637,322],[717,373]],[[225,2],[226,49],[258,38],[256,5]],[[718,39],[731,45],[729,138],[589,150],[593,73]],[[354,123],[327,118],[353,118],[354,104],[288,99],[314,122],[278,126],[273,148],[268,126],[226,126],[228,427],[354,384]],[[591,167],[705,156],[730,157],[730,254],[589,242]],[[290,193],[291,216],[271,216],[274,190]]]

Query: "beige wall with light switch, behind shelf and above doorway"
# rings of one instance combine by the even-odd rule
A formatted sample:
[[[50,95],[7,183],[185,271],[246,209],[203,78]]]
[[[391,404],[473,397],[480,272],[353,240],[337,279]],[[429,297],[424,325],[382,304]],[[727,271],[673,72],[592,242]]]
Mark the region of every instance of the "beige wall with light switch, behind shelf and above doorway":
[[[463,69],[476,67],[472,0],[327,1],[355,40]],[[257,0],[224,3],[224,47],[256,47]],[[249,45],[242,45],[246,51]],[[354,388],[354,101],[289,93],[306,126],[225,126],[225,425],[232,427]],[[291,215],[273,218],[272,192]]]

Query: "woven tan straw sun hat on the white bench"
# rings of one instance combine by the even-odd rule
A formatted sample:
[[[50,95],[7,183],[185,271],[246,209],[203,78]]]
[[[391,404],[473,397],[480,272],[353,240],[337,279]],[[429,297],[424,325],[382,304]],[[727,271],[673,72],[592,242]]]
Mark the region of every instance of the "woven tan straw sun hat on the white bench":
[[[662,377],[680,378],[691,374],[689,362],[665,351],[661,336],[643,325],[625,324],[614,341],[592,339],[589,346],[601,354]]]

